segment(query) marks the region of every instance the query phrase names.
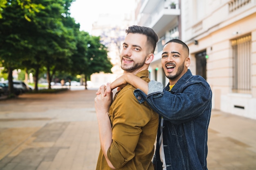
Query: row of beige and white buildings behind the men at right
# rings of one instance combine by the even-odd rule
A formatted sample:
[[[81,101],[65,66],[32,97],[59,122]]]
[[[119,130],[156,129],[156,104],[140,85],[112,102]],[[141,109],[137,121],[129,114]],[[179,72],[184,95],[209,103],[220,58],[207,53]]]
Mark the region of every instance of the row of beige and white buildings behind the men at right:
[[[140,0],[135,15],[160,38],[151,79],[168,83],[161,48],[178,37],[189,46],[191,72],[211,85],[212,108],[256,119],[256,0]]]

